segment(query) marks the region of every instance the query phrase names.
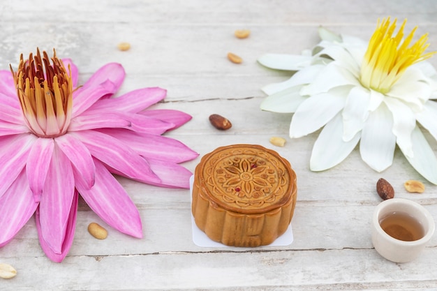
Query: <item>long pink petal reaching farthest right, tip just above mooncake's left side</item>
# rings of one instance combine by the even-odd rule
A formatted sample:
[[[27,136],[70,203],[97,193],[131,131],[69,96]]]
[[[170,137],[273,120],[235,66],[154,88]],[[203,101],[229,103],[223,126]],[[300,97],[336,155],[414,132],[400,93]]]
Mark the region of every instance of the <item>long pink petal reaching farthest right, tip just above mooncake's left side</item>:
[[[119,128],[102,128],[98,131],[121,140],[121,142],[128,144],[131,149],[147,159],[154,158],[172,163],[182,163],[199,156],[198,153],[186,147],[182,142],[173,140],[170,137],[135,133]]]

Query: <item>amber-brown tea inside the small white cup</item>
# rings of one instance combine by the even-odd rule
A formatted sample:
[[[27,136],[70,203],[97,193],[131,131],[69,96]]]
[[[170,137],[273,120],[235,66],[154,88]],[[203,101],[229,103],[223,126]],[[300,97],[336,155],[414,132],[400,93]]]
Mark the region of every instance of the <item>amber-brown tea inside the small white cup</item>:
[[[401,241],[417,241],[424,236],[420,222],[404,212],[388,214],[381,218],[379,224],[390,237]]]

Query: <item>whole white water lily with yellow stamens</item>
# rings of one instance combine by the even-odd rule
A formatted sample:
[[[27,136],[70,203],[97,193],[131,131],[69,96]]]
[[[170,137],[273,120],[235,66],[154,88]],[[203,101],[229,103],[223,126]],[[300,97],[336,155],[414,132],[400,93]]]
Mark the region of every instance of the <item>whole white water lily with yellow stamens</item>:
[[[422,176],[437,184],[437,158],[420,125],[437,140],[437,72],[426,59],[427,35],[396,34],[396,20],[379,22],[369,42],[320,27],[322,39],[302,55],[265,54],[259,63],[297,71],[262,88],[262,110],[294,112],[290,137],[323,128],[311,154],[313,171],[343,161],[360,143],[362,160],[382,172],[396,144]]]

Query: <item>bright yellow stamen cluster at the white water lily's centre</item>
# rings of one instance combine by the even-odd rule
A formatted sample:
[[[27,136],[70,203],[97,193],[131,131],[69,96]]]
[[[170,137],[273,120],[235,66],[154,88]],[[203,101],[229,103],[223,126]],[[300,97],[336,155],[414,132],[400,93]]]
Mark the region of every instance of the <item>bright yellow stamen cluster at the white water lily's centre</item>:
[[[382,22],[378,20],[376,30],[373,36],[371,36],[369,47],[367,47],[361,66],[361,84],[366,88],[383,94],[390,91],[393,84],[399,80],[409,66],[429,59],[436,53],[428,52],[424,54],[424,51],[429,46],[429,43],[427,43],[427,33],[408,47],[411,40],[413,40],[417,27],[403,39],[403,29],[406,20],[403,21],[396,36],[393,36],[396,22],[397,20],[395,19],[390,24],[390,17],[384,18]]]

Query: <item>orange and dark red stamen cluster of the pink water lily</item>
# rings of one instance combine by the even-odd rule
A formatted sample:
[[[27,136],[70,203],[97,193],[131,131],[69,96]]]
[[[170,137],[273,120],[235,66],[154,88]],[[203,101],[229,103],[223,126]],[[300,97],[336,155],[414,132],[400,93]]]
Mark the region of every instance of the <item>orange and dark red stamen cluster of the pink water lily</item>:
[[[53,52],[52,64],[46,52],[41,58],[38,50],[29,59],[20,57],[18,70],[13,73],[17,95],[24,119],[32,133],[39,137],[57,137],[66,133],[73,107],[71,71]]]

